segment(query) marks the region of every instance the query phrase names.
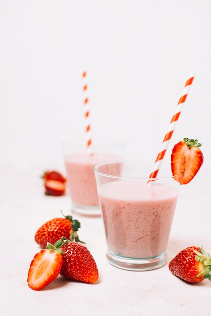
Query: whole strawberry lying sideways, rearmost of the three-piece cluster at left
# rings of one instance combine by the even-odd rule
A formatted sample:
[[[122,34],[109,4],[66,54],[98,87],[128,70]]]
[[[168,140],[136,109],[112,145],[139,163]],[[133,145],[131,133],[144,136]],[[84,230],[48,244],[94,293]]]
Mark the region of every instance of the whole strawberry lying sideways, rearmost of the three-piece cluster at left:
[[[78,242],[80,241],[77,236],[78,228],[80,228],[80,222],[73,220],[70,215],[65,216],[65,218],[54,218],[39,227],[34,240],[42,248],[46,247],[47,242],[55,244],[63,236],[66,239]]]

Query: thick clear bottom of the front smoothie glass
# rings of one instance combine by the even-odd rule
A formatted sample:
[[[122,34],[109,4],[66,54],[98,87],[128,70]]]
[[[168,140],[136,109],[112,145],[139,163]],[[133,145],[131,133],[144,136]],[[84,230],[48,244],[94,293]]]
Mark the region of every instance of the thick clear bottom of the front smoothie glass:
[[[116,268],[130,271],[147,271],[162,267],[166,262],[167,255],[166,252],[163,252],[156,257],[141,259],[122,257],[107,251],[106,258]]]

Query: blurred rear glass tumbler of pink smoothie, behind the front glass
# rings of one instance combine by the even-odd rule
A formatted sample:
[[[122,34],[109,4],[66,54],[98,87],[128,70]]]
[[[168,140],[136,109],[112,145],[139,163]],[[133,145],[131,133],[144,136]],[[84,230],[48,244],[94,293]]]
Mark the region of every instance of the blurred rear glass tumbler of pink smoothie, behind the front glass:
[[[62,148],[72,211],[85,216],[101,216],[94,166],[122,159],[125,143],[94,139],[91,154],[84,139],[64,141]]]

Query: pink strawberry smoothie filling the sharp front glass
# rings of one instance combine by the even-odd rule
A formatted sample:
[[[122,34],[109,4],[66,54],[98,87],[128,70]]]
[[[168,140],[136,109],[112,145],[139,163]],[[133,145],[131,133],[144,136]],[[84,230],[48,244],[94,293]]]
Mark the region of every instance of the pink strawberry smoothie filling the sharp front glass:
[[[171,185],[114,181],[99,188],[108,250],[131,258],[166,251],[178,198]]]

